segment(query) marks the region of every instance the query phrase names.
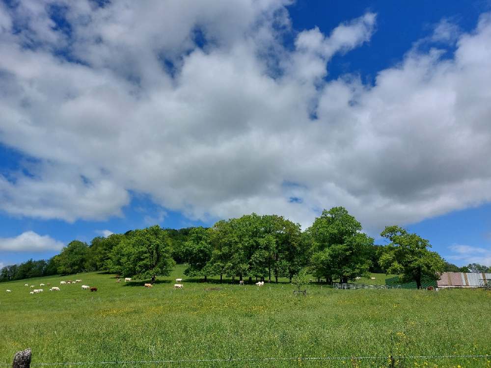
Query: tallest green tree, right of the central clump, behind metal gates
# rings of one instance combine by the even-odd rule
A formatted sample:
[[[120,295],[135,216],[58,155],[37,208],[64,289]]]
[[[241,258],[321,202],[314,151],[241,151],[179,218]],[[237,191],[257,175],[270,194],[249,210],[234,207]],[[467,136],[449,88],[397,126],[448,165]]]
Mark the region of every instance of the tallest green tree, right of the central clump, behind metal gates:
[[[307,229],[314,276],[324,276],[327,283],[333,279],[347,283],[366,275],[371,265],[368,257],[374,239],[361,230],[361,224],[345,208],[324,210]]]

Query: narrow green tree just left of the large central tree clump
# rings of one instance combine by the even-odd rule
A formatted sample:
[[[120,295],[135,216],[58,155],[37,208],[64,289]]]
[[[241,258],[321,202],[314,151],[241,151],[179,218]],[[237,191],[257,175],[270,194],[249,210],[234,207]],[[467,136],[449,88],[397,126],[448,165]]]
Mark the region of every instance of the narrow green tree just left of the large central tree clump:
[[[210,265],[213,246],[210,241],[210,229],[203,227],[192,228],[188,240],[183,245],[183,257],[189,264],[184,270],[187,276],[203,276],[206,282],[208,275],[212,275],[213,267]]]

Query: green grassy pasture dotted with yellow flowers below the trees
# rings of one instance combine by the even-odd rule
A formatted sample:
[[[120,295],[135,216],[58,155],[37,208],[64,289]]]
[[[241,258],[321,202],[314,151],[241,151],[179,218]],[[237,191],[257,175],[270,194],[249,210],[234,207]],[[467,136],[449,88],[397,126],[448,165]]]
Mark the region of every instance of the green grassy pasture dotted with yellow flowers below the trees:
[[[118,284],[113,275],[95,272],[0,284],[0,364],[11,365],[16,351],[31,347],[33,365],[347,357],[83,367],[390,367],[387,358],[393,355],[395,367],[491,367],[489,357],[399,358],[490,354],[491,292],[333,290],[314,284],[306,297],[294,297],[286,282],[257,288],[186,279],[183,290],[173,290],[172,280],[183,277],[184,268],[178,265],[153,289],[143,282]],[[371,281],[385,275],[377,277]],[[59,286],[76,278],[98,291],[76,284],[29,295],[23,286]],[[368,356],[380,359],[352,358]]]

